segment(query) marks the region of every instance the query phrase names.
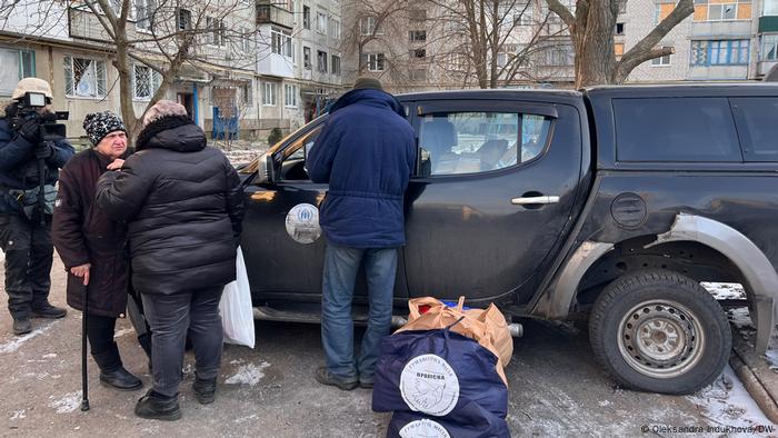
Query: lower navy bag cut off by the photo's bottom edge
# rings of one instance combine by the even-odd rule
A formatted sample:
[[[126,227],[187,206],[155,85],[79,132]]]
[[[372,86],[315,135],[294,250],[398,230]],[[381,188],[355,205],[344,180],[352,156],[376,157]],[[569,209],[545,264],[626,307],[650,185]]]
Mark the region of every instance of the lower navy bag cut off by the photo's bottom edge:
[[[495,438],[510,437],[508,422],[496,416],[480,422],[457,424],[446,418],[397,411],[391,416],[387,438]]]

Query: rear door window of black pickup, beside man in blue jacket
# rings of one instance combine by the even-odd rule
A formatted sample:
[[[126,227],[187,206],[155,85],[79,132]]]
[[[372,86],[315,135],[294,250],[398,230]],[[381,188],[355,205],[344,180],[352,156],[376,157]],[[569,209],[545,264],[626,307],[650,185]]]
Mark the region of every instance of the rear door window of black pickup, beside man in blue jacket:
[[[510,112],[425,116],[419,145],[429,152],[431,175],[477,173],[530,161],[542,152],[550,119]]]

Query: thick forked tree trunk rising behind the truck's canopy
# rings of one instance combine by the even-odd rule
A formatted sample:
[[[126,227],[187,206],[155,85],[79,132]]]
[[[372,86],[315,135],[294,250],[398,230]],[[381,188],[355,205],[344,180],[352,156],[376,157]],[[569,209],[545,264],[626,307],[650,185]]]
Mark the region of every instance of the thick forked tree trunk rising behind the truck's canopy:
[[[570,29],[576,51],[576,88],[622,83],[639,64],[674,53],[675,48],[656,47],[672,28],[695,11],[694,0],[680,0],[670,14],[617,61],[614,28],[620,3],[626,0],[577,0],[575,13],[560,0],[546,1]]]

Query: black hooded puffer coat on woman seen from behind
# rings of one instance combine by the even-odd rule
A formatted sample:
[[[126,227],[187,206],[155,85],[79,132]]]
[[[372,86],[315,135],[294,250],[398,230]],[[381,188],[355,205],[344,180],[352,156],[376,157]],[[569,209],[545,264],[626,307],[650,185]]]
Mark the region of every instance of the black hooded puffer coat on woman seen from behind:
[[[97,205],[129,226],[132,286],[176,295],[236,278],[243,199],[225,155],[187,117],[167,116],[138,137],[121,171],[106,172]]]

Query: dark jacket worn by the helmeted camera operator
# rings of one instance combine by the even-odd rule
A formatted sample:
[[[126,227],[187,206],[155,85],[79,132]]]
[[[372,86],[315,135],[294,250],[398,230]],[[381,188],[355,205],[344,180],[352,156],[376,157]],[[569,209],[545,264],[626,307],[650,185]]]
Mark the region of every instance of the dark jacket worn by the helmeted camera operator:
[[[73,147],[67,140],[54,141],[54,153],[46,160],[46,183],[53,185],[59,169],[73,156]],[[8,195],[9,189],[28,190],[38,187],[38,160],[36,145],[11,130],[8,119],[0,118],[0,213],[16,213],[21,209]]]

